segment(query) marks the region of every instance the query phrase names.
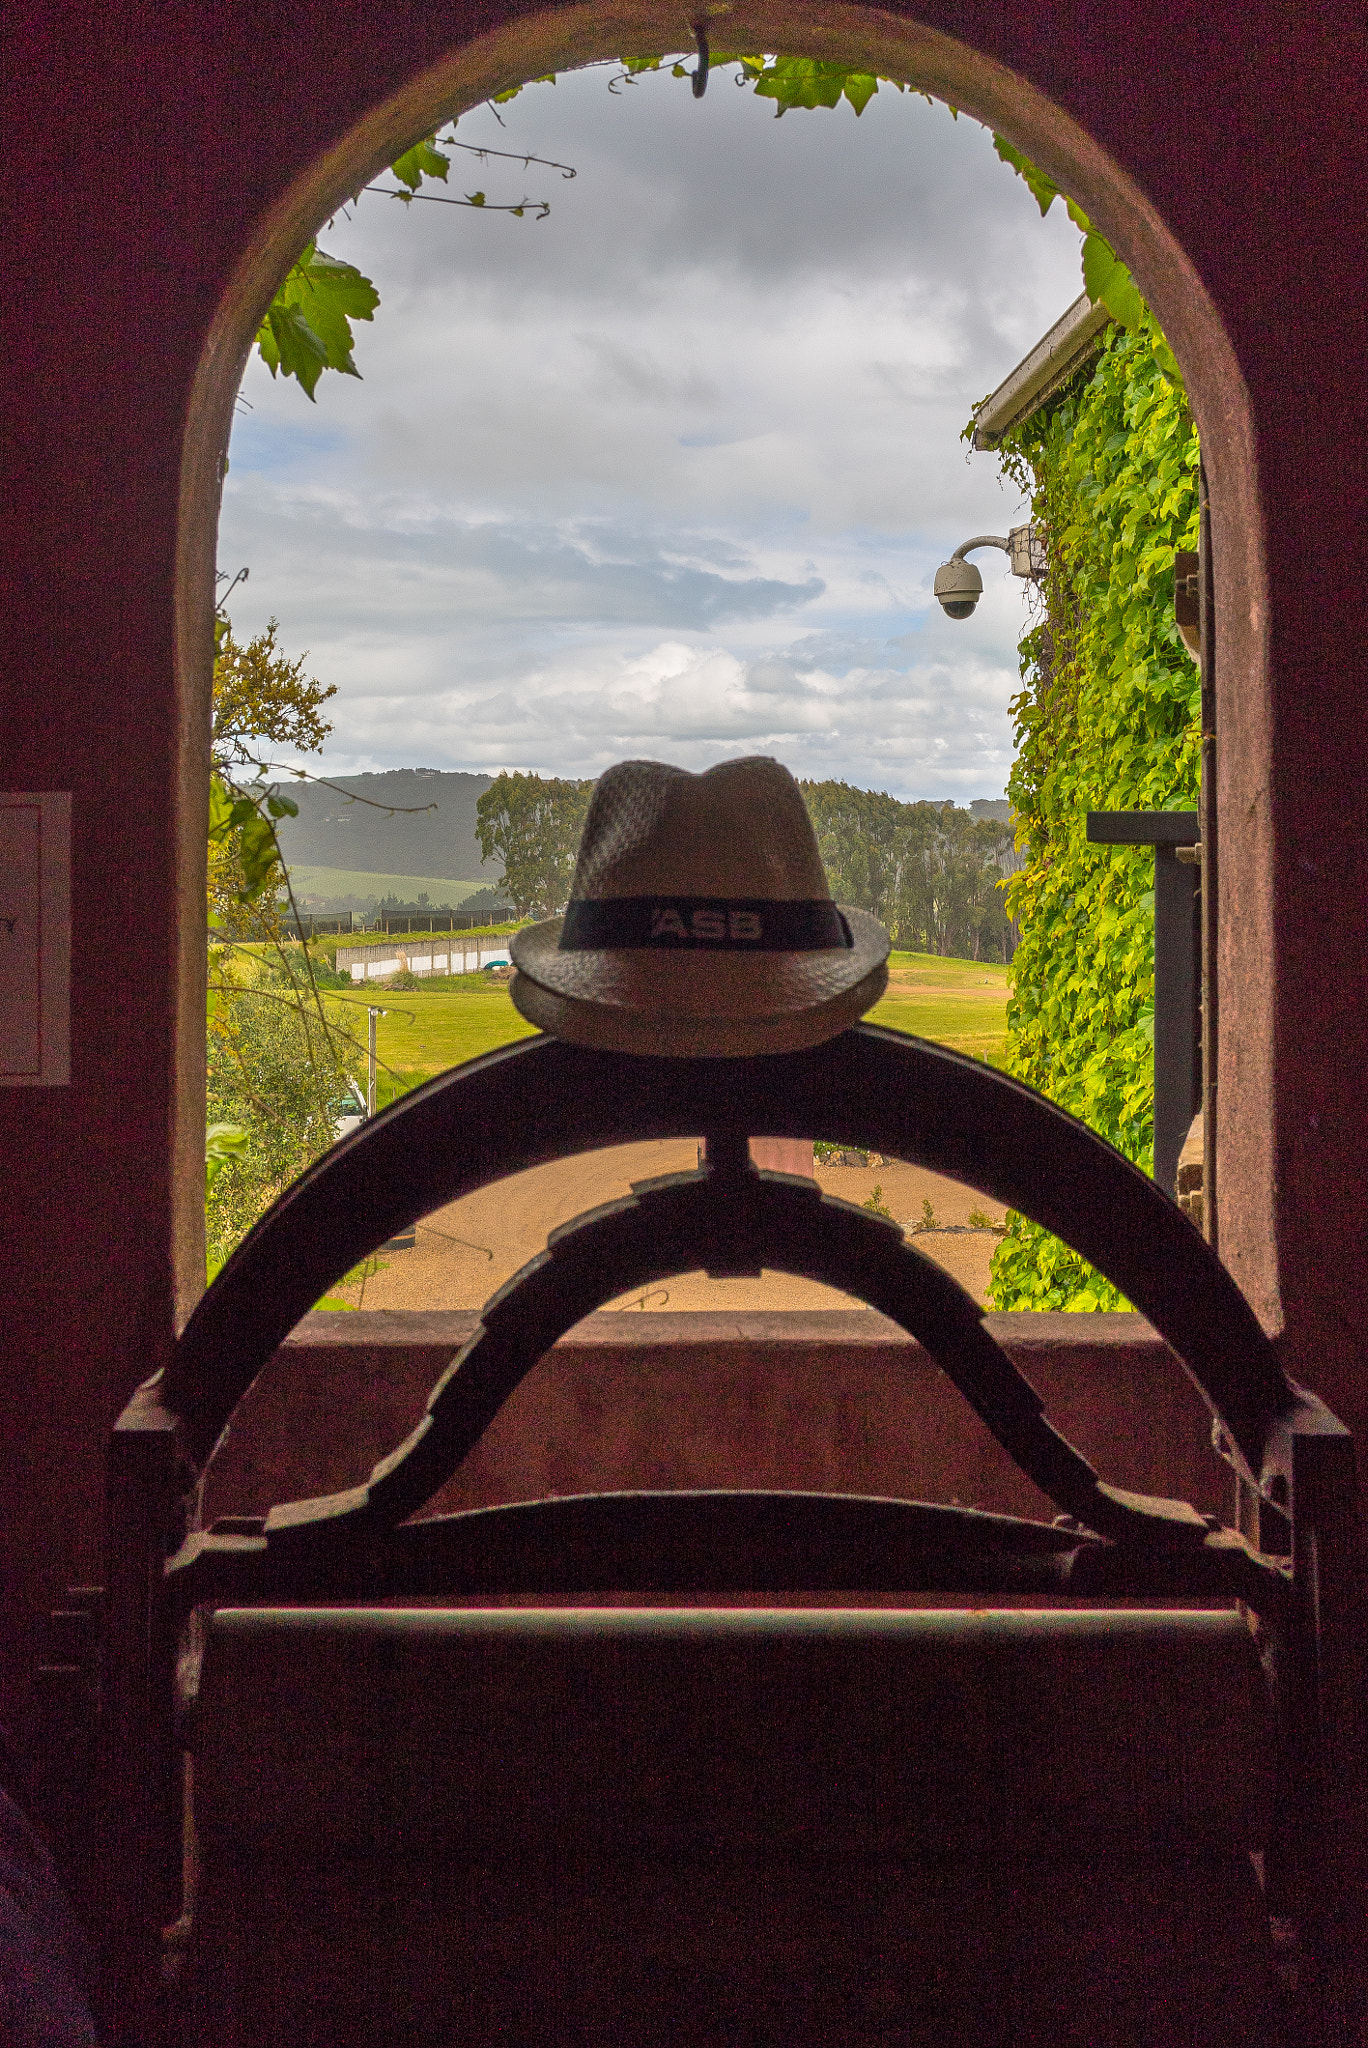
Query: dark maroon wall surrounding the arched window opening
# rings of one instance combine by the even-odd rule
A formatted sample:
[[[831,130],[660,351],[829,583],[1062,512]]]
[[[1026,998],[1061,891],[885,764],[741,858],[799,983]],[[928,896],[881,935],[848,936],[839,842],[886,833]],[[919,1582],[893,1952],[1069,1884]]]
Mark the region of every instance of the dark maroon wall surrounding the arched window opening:
[[[76,795],[74,1079],[0,1090],[12,1655],[27,1610],[96,1571],[106,1425],[166,1358],[176,1264],[182,1309],[195,1286],[203,1016],[180,893],[193,907],[203,705],[178,694],[174,608],[195,369],[289,180],[418,70],[518,12],[530,16],[463,0],[8,10],[2,780]],[[1223,1243],[1270,1325],[1286,1325],[1292,1370],[1368,1423],[1362,8],[887,0],[889,16],[1008,66],[1079,123],[1188,252],[1239,358],[1262,522],[1249,547],[1268,586],[1233,571],[1223,602],[1249,645],[1266,637],[1270,664],[1223,676]],[[637,18],[649,25],[645,8]],[[754,18],[758,45],[782,45],[782,8]],[[793,10],[809,43],[813,20],[850,41],[852,18]],[[659,23],[657,43],[678,41],[676,16]],[[1173,279],[1163,289],[1178,317]],[[1219,401],[1202,403],[1214,449]],[[1229,504],[1231,463],[1214,477]],[[1229,535],[1221,549],[1235,559]],[[207,588],[186,602],[203,643]]]

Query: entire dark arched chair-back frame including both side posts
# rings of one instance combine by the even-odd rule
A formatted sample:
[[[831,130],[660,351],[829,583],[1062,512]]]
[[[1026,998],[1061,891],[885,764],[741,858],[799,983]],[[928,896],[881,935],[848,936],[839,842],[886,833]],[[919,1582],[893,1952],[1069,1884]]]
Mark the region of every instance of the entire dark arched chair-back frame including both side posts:
[[[299,1317],[367,1251],[475,1188],[586,1149],[707,1139],[698,1174],[575,1219],[485,1307],[418,1430],[367,1485],[190,1528],[195,1481]],[[1167,1339],[1241,1475],[1276,1497],[1290,1559],[1184,1503],[1108,1487],[1040,1413],[983,1311],[901,1231],[788,1176],[750,1137],[821,1135],[969,1182],[1055,1231]],[[811,1493],[616,1493],[405,1520],[588,1309],[704,1266],[807,1272],[891,1313],[1063,1507],[1055,1524]],[[1331,1974],[1358,1911],[1360,1575],[1352,1446],[1282,1372],[1178,1206],[1112,1147],[1003,1075],[877,1026],[768,1059],[639,1059],[530,1038],[428,1083],[281,1196],[205,1294],[111,1452],[106,1788],[129,1970],[154,1980],[180,1911],[176,1657],[203,1606],[594,1591],[967,1591],[1243,1599],[1259,1616],[1286,1745],[1270,1903]],[[1282,1520],[1276,1513],[1274,1520]],[[1282,1548],[1282,1546],[1280,1546]],[[129,1829],[137,1837],[127,1853]],[[113,1845],[111,1845],[113,1855]],[[1331,1872],[1335,1872],[1331,1880]]]

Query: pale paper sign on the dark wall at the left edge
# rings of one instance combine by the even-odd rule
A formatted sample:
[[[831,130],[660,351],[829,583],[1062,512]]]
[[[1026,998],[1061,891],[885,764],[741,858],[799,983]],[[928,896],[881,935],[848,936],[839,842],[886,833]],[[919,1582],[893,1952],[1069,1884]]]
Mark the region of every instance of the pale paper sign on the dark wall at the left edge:
[[[0,1087],[72,1079],[72,797],[0,791]]]

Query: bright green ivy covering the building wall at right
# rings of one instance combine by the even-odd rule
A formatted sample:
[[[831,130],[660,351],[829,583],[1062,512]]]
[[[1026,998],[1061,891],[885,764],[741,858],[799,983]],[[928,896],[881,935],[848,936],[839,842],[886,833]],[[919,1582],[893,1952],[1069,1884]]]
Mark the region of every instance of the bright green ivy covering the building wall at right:
[[[1110,328],[1087,381],[1003,438],[1049,532],[1020,643],[1008,795],[1026,866],[1010,1071],[1153,1165],[1153,852],[1089,846],[1087,811],[1196,809],[1198,672],[1173,623],[1173,553],[1198,545],[1198,438],[1149,313]],[[1124,1309],[1057,1237],[1010,1214],[997,1309]]]

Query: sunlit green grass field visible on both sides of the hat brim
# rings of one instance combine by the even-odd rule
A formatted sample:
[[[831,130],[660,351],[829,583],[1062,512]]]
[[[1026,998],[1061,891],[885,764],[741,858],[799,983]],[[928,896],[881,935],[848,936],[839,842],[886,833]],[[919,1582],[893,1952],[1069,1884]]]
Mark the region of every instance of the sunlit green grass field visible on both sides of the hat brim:
[[[530,1038],[535,1030],[514,1010],[508,983],[487,983],[479,975],[442,975],[403,991],[377,987],[371,995],[387,1008],[377,1026],[377,1051],[393,1069],[393,1075],[381,1075],[381,1102],[479,1053]],[[895,952],[889,961],[889,993],[870,1010],[870,1024],[936,1038],[956,1053],[1001,1065],[1006,1010],[1006,967]],[[348,1024],[352,1030],[365,1028],[365,1010],[348,1004]]]

